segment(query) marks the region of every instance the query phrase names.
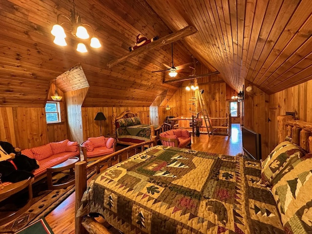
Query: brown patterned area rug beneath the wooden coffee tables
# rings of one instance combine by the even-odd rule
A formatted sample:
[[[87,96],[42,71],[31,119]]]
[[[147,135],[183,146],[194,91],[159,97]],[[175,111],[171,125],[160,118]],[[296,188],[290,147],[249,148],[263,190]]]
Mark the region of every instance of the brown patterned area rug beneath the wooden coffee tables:
[[[87,178],[90,178],[95,172],[88,172]],[[66,172],[58,173],[53,176],[53,183],[63,183],[72,179],[73,176]],[[50,213],[74,191],[75,185],[64,189],[48,190],[46,178],[43,178],[33,184],[33,199],[28,210],[11,222],[0,226],[0,233],[15,233],[20,231],[30,223]],[[28,199],[28,190],[21,191],[11,196],[10,199],[2,201],[2,204],[0,203],[0,215],[5,215],[5,211],[7,210],[16,210],[22,207]],[[5,203],[3,204],[3,202]]]

